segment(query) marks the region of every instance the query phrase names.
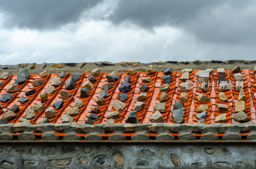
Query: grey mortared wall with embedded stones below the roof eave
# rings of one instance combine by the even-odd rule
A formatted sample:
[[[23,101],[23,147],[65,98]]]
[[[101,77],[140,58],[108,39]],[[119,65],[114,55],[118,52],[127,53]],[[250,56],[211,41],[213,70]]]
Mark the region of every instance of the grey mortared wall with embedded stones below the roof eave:
[[[1,143],[1,168],[255,168],[255,143]]]

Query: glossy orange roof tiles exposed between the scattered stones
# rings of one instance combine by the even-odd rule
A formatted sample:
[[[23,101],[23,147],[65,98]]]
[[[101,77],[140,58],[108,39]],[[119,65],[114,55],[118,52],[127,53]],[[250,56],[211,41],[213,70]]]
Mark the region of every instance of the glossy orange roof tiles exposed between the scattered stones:
[[[192,89],[188,90],[188,100],[184,101],[185,104],[185,114],[184,114],[184,120],[185,123],[197,123],[197,118],[196,114],[197,112],[197,107],[199,107],[201,104],[207,104],[209,106],[209,109],[207,110],[209,113],[207,115],[207,118],[205,120],[205,124],[212,124],[215,123],[215,118],[217,115],[220,115],[222,113],[227,114],[227,123],[233,123],[233,114],[235,113],[235,102],[238,101],[238,95],[239,91],[236,90],[236,83],[235,83],[235,78],[234,78],[234,73],[231,72],[231,70],[225,70],[226,72],[226,78],[228,80],[234,81],[233,88],[231,88],[228,91],[225,91],[224,93],[228,97],[227,102],[223,102],[218,98],[218,94],[220,93],[220,90],[218,88],[218,76],[217,76],[217,70],[214,70],[212,74],[210,74],[210,87],[207,89],[206,92],[203,92],[200,88],[197,88],[197,76],[196,72],[199,71],[198,69],[194,69],[192,72],[189,73],[189,80],[194,82],[194,87]],[[255,115],[255,102],[256,99],[254,98],[253,94],[256,92],[256,89],[253,87],[256,83],[256,80],[254,79],[255,73],[253,73],[252,69],[242,69],[242,75],[244,76],[244,94],[246,96],[246,106],[247,106],[247,111],[246,114],[250,117],[250,119],[253,122],[256,122],[256,115]],[[106,75],[109,73],[100,73],[100,75],[96,76],[97,81],[93,83],[93,89],[90,90],[90,95],[88,97],[80,98],[79,97],[79,89],[82,87],[82,84],[88,79],[89,75],[91,73],[84,72],[81,74],[81,77],[76,81],[76,87],[72,90],[69,90],[71,93],[71,96],[64,100],[64,105],[59,109],[55,110],[55,116],[52,119],[49,119],[51,123],[61,123],[62,116],[66,113],[65,109],[67,108],[72,108],[74,105],[74,100],[72,99],[72,96],[75,97],[75,99],[80,99],[83,100],[83,106],[79,108],[79,113],[75,116],[73,116],[74,122],[79,122],[79,123],[84,123],[87,120],[88,115],[91,113],[90,109],[92,107],[97,106],[96,100],[99,97],[99,93],[103,90],[102,85],[105,83],[108,83]],[[172,109],[173,105],[176,101],[180,100],[180,83],[182,81],[180,80],[181,77],[180,71],[172,71],[172,83],[170,84],[170,90],[167,93],[169,96],[169,100],[166,101],[166,110],[164,113],[161,113],[164,117],[164,121],[166,123],[172,123],[173,118],[172,118]],[[40,101],[40,94],[44,93],[44,90],[51,86],[51,81],[53,77],[57,77],[58,74],[56,73],[49,73],[47,76],[43,77],[44,82],[40,86],[33,86],[32,82],[36,79],[42,78],[39,75],[30,75],[26,82],[19,85],[19,90],[17,92],[12,93],[13,97],[11,100],[7,102],[2,102],[2,108],[0,109],[1,116],[3,115],[3,108],[10,109],[10,107],[13,104],[16,104],[20,107],[20,111],[16,113],[16,118],[13,120],[8,121],[9,123],[17,123],[19,122],[20,118],[24,118],[26,114],[27,108],[30,108],[34,104],[41,104]],[[108,90],[108,97],[105,98],[105,103],[104,105],[100,106],[100,113],[99,113],[99,120],[95,121],[94,124],[97,123],[106,123],[107,121],[107,114],[112,111],[116,111],[112,107],[112,103],[114,102],[115,99],[119,100],[119,93],[122,93],[119,91],[119,86],[121,83],[124,82],[125,77],[127,77],[127,72],[126,73],[119,73],[117,75],[119,77],[119,80],[114,82],[114,86]],[[123,111],[120,112],[120,117],[115,120],[115,123],[125,123],[125,120],[129,113],[133,110],[133,106],[135,105],[136,96],[140,94],[140,86],[144,84],[144,82],[141,81],[143,77],[151,77],[152,82],[150,83],[145,83],[147,84],[150,89],[147,91],[148,93],[148,99],[145,101],[141,101],[145,103],[145,107],[138,112],[138,118],[140,120],[140,123],[150,123],[149,118],[154,112],[154,107],[156,103],[159,103],[159,98],[161,92],[159,92],[159,88],[161,85],[164,85],[164,81],[162,77],[164,77],[165,74],[164,72],[156,71],[156,73],[152,75],[146,75],[146,72],[140,72],[137,71],[135,75],[130,75],[131,77],[131,88],[132,90],[128,93],[128,100],[126,100],[124,103],[126,104],[126,107],[124,108]],[[0,86],[0,95],[3,93],[7,93],[7,89],[14,84],[14,82],[17,79],[17,75],[12,75],[8,77],[7,79],[4,80],[4,85]],[[41,110],[40,112],[36,112],[36,118],[29,120],[31,123],[36,124],[37,121],[41,120],[44,118],[44,111],[46,108],[52,107],[52,104],[58,100],[62,100],[60,97],[60,91],[61,90],[67,90],[65,88],[65,81],[71,77],[71,74],[67,73],[62,79],[63,82],[55,86],[56,92],[53,94],[48,95],[48,100],[44,102],[44,109]],[[0,79],[3,80],[3,79]],[[25,104],[20,103],[19,97],[27,97],[25,95],[25,92],[28,92],[30,90],[36,89],[36,93],[28,96],[29,101]],[[208,95],[211,100],[206,102],[206,103],[201,103],[197,100],[197,96],[199,96],[201,93],[204,93]],[[226,112],[219,112],[217,108],[217,104],[226,104],[228,106],[228,111]],[[54,108],[55,109],[55,108]],[[128,135],[131,133],[128,133]],[[127,135],[124,133],[124,135]]]

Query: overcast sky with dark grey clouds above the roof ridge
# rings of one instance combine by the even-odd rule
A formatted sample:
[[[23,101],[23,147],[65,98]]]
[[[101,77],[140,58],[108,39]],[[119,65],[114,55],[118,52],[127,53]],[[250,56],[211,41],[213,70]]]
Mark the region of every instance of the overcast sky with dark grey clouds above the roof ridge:
[[[255,0],[0,0],[0,64],[255,56]]]

